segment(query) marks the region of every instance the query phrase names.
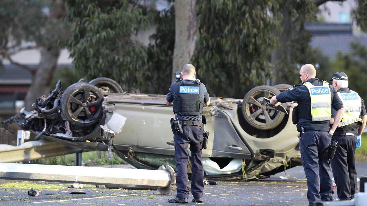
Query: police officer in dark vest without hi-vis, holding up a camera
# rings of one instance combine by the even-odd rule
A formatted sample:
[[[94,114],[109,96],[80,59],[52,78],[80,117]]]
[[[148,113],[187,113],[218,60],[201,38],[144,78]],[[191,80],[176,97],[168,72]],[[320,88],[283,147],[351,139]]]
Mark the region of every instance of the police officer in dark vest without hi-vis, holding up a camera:
[[[189,197],[187,163],[189,161],[188,145],[191,152],[191,193],[193,202],[203,202],[204,169],[201,162],[204,125],[201,123],[203,104],[209,105],[210,99],[206,87],[200,80],[195,79],[195,67],[186,64],[182,68],[183,80],[174,82],[166,97],[166,104],[173,102],[173,111],[182,125],[183,134],[174,135],[176,158],[177,194],[169,199],[171,203],[187,203]]]

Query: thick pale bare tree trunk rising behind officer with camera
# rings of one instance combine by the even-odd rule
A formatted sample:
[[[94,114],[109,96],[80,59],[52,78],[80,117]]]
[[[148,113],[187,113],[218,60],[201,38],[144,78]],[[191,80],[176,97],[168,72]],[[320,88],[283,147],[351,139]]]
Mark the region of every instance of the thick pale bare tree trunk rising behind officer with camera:
[[[175,1],[175,48],[173,52],[172,82],[175,71],[181,71],[183,65],[191,63],[195,50],[197,16],[196,0]],[[195,65],[194,65],[195,66]]]

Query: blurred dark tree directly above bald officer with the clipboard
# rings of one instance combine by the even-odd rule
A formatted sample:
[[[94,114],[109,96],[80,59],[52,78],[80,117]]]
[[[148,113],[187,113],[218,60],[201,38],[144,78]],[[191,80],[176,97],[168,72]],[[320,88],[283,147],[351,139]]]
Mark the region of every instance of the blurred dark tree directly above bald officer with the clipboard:
[[[316,21],[318,9],[312,0],[278,0],[278,2],[281,26],[273,30],[278,41],[271,52],[273,65],[271,84],[295,84],[296,82],[298,84],[299,81],[294,78],[295,74],[299,73],[297,65],[304,64],[305,58],[313,55],[309,45],[311,34],[305,30],[304,24]]]

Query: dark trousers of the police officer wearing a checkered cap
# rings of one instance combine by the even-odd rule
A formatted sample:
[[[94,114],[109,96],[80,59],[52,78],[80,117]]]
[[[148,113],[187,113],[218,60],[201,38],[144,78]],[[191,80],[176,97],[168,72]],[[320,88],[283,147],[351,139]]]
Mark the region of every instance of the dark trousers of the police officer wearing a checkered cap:
[[[338,198],[349,200],[357,192],[357,170],[354,160],[357,137],[334,133],[332,140],[339,143],[334,159],[331,160]]]

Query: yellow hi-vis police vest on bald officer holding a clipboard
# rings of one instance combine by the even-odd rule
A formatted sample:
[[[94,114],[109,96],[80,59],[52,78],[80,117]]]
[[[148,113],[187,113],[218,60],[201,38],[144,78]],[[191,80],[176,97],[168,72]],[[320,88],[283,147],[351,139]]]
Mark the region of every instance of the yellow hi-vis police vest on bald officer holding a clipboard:
[[[315,86],[305,82],[311,97],[312,121],[326,121],[331,118],[331,93],[329,83],[323,81],[323,85]]]

